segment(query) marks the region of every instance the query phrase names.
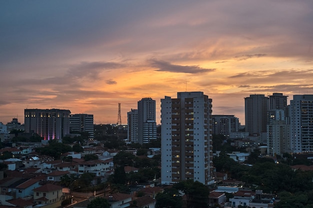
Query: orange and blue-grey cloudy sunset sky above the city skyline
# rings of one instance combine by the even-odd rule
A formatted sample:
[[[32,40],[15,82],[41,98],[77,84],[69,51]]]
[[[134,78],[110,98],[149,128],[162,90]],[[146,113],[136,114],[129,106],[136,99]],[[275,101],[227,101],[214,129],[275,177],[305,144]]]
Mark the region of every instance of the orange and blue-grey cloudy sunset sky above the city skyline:
[[[202,91],[244,125],[250,94],[313,94],[312,0],[0,0],[0,122],[24,109],[121,123]]]

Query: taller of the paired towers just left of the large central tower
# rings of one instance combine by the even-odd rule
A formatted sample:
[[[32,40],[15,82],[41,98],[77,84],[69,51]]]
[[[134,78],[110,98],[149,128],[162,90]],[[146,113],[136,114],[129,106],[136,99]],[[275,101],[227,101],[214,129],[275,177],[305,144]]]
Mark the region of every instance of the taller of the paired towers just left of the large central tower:
[[[138,142],[149,143],[156,139],[155,100],[142,98],[138,101]]]

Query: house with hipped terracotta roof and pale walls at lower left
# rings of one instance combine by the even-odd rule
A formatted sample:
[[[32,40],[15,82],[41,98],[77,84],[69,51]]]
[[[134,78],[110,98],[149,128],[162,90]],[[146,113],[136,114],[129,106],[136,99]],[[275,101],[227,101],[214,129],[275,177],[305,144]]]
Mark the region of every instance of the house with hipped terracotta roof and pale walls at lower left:
[[[63,200],[62,187],[45,184],[33,190],[35,207],[56,208],[61,206]]]

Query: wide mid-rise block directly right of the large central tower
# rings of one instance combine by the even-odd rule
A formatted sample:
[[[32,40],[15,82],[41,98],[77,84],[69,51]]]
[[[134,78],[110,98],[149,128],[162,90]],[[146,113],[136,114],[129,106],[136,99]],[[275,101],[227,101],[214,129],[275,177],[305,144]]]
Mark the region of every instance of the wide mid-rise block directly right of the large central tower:
[[[229,138],[231,132],[239,131],[239,119],[234,115],[212,115],[212,133]]]

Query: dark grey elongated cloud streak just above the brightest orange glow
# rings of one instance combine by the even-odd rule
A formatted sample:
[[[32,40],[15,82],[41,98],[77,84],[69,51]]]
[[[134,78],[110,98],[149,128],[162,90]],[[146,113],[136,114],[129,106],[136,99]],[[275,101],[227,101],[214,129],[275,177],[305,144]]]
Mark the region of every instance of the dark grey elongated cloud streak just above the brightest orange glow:
[[[169,62],[160,61],[160,60],[149,60],[149,63],[153,68],[157,68],[156,71],[197,74],[197,73],[211,72],[215,70],[215,69],[205,69],[199,66],[174,65],[174,64],[170,64]]]

